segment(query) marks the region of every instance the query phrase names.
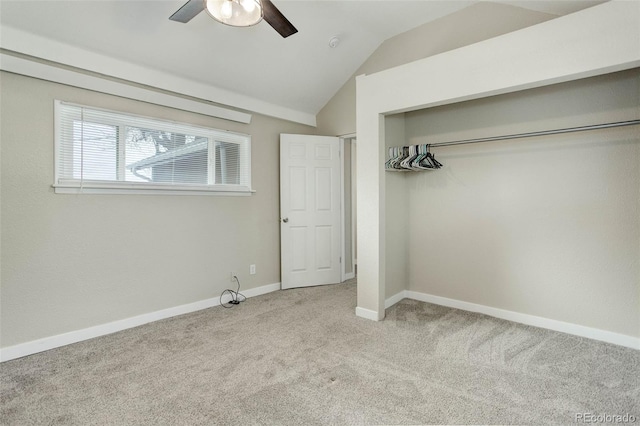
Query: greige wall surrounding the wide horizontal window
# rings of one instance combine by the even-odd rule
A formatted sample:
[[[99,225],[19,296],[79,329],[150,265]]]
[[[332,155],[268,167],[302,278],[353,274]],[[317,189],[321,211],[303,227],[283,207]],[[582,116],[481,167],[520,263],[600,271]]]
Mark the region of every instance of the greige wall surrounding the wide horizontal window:
[[[217,297],[232,270],[243,289],[280,281],[279,134],[314,128],[0,76],[2,347]],[[251,134],[257,193],[54,194],[54,99]]]

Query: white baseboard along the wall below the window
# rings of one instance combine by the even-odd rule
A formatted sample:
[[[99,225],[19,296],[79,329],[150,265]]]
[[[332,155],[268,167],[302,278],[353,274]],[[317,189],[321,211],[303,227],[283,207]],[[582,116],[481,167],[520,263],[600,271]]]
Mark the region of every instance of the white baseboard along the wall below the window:
[[[262,294],[271,293],[280,290],[280,283],[267,284],[261,287],[241,290],[246,297],[255,297]],[[227,302],[228,297],[223,298],[223,302]],[[148,324],[165,318],[171,318],[178,315],[188,314],[202,309],[211,308],[220,305],[220,297],[200,300],[186,305],[175,306],[172,308],[162,309],[160,311],[149,312],[147,314],[138,315],[131,318],[125,318],[113,321],[107,324],[101,324],[82,330],[70,331],[68,333],[58,334],[56,336],[45,337],[31,342],[21,343],[15,346],[9,346],[0,349],[0,362],[9,361],[38,352],[47,351],[49,349],[59,348],[71,343],[81,342],[83,340],[93,339],[94,337],[104,336],[106,334],[115,333],[126,330],[128,328],[137,327],[139,325]]]

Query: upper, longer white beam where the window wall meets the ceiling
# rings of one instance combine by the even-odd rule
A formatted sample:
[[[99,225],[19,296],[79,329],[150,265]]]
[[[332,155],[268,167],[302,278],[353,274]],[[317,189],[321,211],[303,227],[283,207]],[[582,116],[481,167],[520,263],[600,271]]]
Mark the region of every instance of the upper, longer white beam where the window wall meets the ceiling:
[[[148,87],[183,94],[201,99],[203,102],[216,102],[270,117],[316,126],[315,114],[293,110],[153,68],[135,65],[6,25],[2,27],[0,47],[34,58],[68,65],[79,70],[87,70]],[[4,58],[2,61],[4,61]],[[75,72],[73,74],[77,78],[81,78],[83,75]]]

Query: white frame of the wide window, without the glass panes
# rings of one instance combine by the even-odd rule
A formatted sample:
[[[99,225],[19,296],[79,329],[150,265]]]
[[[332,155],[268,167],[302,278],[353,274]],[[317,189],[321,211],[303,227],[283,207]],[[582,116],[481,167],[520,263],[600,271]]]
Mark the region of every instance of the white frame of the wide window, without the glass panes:
[[[143,124],[147,128],[169,131],[182,132],[185,134],[206,137],[208,139],[208,180],[212,182],[215,177],[215,144],[216,142],[226,142],[238,144],[241,152],[241,161],[246,161],[247,182],[244,184],[206,184],[206,185],[180,185],[170,183],[153,183],[153,182],[126,182],[118,181],[102,181],[87,179],[65,178],[63,170],[70,167],[69,164],[63,164],[60,155],[60,147],[62,146],[62,130],[63,123],[61,118],[61,108],[63,105],[86,108],[87,110],[99,111],[106,120],[94,120],[99,124],[117,126],[118,140],[123,141],[126,138],[127,127],[138,127]],[[128,122],[127,118],[131,117],[135,120],[135,124]],[[80,117],[79,117],[80,119]],[[235,133],[226,130],[206,128],[173,122],[163,119],[155,119],[140,115],[107,110],[92,106],[75,104],[55,100],[54,105],[54,183],[53,188],[57,194],[166,194],[166,195],[240,195],[248,196],[255,191],[251,187],[251,136],[244,133]],[[69,129],[67,128],[67,131]],[[124,150],[118,150],[118,155],[124,155]],[[118,163],[122,166],[118,167],[118,179],[122,179],[121,174],[124,171],[124,159],[119,158]],[[71,166],[72,167],[72,166]],[[122,168],[122,170],[120,170]]]

